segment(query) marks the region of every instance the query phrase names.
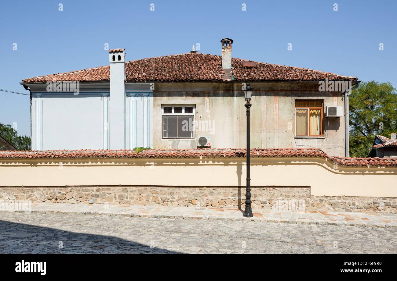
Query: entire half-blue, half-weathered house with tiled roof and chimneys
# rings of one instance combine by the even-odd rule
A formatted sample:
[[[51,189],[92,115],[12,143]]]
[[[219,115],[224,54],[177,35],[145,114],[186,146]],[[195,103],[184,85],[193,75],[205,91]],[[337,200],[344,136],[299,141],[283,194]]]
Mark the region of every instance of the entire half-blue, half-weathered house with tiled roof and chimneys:
[[[345,156],[348,103],[337,85],[355,86],[357,77],[239,59],[233,40],[221,43],[222,55],[135,61],[112,49],[109,65],[22,80],[31,92],[32,149],[245,147],[249,83],[251,147]]]

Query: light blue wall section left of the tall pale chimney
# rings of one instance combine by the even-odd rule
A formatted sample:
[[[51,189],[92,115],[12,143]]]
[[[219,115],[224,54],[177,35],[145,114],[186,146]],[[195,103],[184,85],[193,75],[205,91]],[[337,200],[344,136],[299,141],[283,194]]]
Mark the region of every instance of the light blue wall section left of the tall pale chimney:
[[[32,95],[32,149],[103,149],[104,95]]]

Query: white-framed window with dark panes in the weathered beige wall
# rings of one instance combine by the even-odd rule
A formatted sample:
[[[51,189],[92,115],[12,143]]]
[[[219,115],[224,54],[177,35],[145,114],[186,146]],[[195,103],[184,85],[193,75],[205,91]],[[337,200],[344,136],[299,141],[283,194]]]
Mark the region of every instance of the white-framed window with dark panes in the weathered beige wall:
[[[195,138],[195,105],[162,105],[163,138]]]

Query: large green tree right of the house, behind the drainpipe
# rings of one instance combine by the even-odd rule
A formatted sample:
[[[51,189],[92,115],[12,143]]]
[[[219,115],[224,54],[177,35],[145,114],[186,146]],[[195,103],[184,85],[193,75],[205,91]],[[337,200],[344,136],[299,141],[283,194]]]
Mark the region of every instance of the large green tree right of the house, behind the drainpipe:
[[[350,155],[368,157],[374,137],[397,131],[397,93],[389,83],[361,82],[349,97]]]

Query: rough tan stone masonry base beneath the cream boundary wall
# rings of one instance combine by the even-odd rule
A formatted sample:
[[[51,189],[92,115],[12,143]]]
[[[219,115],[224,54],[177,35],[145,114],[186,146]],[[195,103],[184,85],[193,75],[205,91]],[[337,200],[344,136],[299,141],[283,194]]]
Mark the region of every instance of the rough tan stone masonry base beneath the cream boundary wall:
[[[310,195],[310,187],[253,187],[252,208],[345,212],[397,211],[397,198]],[[244,208],[245,187],[0,187],[0,201]]]

